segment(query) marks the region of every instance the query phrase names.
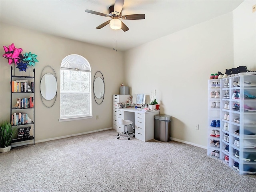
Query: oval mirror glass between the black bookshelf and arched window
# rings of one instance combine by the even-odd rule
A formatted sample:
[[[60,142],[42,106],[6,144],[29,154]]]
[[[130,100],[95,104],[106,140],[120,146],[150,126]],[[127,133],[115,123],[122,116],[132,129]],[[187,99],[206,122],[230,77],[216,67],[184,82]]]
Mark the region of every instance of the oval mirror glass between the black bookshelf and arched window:
[[[46,100],[52,100],[57,93],[57,80],[51,73],[46,73],[40,83],[41,95]]]

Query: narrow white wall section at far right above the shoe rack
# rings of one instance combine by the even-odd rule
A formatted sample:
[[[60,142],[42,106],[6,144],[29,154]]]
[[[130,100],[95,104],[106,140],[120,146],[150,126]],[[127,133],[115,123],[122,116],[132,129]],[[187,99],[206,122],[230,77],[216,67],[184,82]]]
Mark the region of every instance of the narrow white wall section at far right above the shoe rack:
[[[256,70],[256,12],[252,6],[256,0],[246,0],[233,11],[234,18],[234,66],[247,66]]]

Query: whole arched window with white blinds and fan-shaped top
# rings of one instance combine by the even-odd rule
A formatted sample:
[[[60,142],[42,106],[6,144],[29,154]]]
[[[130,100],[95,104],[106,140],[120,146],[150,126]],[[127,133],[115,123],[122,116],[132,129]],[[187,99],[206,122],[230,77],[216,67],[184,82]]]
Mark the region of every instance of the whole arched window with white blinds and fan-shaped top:
[[[60,120],[92,118],[91,66],[86,58],[72,54],[60,66]]]

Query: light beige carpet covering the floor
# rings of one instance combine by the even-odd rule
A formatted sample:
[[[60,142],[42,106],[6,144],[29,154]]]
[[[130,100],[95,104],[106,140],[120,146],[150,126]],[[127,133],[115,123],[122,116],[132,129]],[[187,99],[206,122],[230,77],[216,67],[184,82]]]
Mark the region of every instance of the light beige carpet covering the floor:
[[[0,154],[1,192],[255,192],[241,176],[179,142],[116,139],[106,130]]]

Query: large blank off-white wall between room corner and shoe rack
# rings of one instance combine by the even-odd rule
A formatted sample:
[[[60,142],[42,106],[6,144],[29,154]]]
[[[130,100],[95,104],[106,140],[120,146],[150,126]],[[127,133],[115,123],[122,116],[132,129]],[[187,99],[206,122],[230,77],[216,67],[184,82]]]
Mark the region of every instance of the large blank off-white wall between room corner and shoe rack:
[[[125,52],[132,94],[156,89],[173,138],[207,146],[208,79],[234,65],[232,19],[228,13]]]

